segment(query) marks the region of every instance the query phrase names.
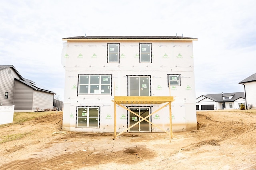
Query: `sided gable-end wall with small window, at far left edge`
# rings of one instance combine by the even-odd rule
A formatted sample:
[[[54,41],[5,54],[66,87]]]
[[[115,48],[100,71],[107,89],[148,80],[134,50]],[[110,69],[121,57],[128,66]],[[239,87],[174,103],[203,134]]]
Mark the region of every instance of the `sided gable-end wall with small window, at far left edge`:
[[[9,69],[11,74],[9,74]],[[0,70],[0,103],[3,106],[11,106],[14,104],[14,78],[20,79],[18,74],[12,68]],[[5,92],[8,92],[8,99],[5,99]]]

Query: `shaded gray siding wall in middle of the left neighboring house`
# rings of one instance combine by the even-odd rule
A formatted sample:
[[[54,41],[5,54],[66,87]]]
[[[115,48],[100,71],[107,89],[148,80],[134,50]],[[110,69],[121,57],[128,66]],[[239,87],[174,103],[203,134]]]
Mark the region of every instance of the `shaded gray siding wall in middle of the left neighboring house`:
[[[33,89],[22,84],[21,82],[15,82],[15,98],[14,109],[15,110],[32,110],[33,102]]]

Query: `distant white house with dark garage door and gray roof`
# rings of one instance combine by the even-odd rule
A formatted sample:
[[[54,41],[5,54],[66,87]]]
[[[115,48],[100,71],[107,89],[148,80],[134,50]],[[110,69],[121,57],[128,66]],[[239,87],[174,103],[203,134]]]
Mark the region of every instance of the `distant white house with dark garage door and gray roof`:
[[[196,110],[240,109],[244,92],[206,94],[196,98]]]

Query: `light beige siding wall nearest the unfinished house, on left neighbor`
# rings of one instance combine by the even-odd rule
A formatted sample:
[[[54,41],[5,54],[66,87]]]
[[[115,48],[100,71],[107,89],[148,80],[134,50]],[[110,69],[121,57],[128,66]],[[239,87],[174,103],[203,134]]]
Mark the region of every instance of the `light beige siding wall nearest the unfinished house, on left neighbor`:
[[[53,108],[53,94],[34,90],[33,110],[39,107],[40,110]]]

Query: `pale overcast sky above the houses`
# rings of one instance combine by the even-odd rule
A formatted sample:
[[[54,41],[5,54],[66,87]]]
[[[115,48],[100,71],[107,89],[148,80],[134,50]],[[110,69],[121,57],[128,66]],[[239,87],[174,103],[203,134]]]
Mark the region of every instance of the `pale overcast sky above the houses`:
[[[244,92],[256,73],[256,0],[0,0],[0,65],[64,98],[62,38],[175,36],[193,41],[196,97]]]

